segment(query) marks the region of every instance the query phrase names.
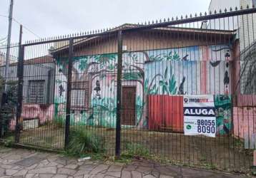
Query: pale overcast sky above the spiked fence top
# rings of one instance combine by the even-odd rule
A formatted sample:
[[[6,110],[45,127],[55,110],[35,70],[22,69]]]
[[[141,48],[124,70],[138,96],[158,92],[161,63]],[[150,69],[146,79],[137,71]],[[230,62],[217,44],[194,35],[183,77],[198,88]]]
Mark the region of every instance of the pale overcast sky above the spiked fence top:
[[[0,0],[0,39],[7,36],[10,0]],[[41,38],[205,12],[210,0],[14,0],[14,19]],[[11,41],[19,41],[13,22]],[[23,41],[38,38],[24,29]]]

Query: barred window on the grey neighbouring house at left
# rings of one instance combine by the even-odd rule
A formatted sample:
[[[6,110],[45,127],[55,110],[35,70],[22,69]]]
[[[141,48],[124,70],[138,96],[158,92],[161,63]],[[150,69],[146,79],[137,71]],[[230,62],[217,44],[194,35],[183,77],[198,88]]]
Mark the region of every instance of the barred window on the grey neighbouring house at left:
[[[45,83],[44,80],[29,81],[29,94],[28,94],[29,103],[44,104],[44,98],[45,98],[44,83]]]

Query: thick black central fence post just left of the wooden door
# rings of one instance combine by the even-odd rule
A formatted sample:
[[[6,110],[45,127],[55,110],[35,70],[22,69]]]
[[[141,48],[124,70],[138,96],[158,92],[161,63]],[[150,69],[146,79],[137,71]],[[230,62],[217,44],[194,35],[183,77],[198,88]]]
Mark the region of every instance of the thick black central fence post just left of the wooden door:
[[[116,156],[120,157],[122,106],[122,31],[118,31]]]

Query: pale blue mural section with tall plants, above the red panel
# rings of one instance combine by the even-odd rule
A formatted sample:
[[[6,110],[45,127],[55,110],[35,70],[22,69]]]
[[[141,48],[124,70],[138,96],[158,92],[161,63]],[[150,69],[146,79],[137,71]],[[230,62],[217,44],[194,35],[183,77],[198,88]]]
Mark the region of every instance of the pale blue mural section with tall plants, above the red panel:
[[[154,61],[145,65],[148,94],[205,95],[230,93],[230,63]],[[164,69],[164,70],[163,70]]]

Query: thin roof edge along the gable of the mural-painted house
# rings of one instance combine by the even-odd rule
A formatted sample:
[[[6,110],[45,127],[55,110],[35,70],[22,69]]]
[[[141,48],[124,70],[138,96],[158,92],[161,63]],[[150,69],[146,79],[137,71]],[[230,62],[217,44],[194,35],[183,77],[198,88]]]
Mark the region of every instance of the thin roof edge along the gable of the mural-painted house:
[[[108,32],[114,32],[114,31],[119,31],[119,30],[124,30],[127,28],[136,28],[138,26],[144,26],[144,25],[137,25],[137,24],[132,24],[132,23],[124,23],[121,26],[117,26],[116,28],[112,28]],[[182,28],[182,27],[173,27],[173,26],[168,26],[168,27],[158,27],[158,28],[152,28],[147,31],[171,31],[171,32],[179,32],[182,31],[183,33],[212,33],[214,35],[230,35],[233,36],[235,31],[227,31],[227,30],[217,30],[217,29],[204,29],[204,28]],[[90,38],[81,38],[77,41],[74,41],[74,46],[87,43],[88,41],[92,41],[93,39],[100,38],[100,36],[94,36]],[[61,46],[60,48],[56,48],[54,50],[51,50],[51,54],[58,53],[60,51],[67,50],[69,48],[69,43],[65,46]]]

